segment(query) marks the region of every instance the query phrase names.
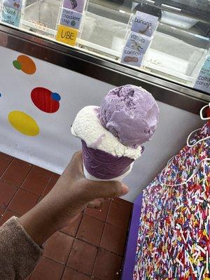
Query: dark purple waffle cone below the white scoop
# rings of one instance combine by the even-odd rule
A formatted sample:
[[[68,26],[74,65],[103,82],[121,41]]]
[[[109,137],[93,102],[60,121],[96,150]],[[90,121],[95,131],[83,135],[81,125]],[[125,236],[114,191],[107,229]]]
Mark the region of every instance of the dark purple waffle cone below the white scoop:
[[[127,172],[134,160],[127,157],[115,157],[110,153],[83,145],[83,162],[87,172],[97,179],[109,180],[117,178]]]

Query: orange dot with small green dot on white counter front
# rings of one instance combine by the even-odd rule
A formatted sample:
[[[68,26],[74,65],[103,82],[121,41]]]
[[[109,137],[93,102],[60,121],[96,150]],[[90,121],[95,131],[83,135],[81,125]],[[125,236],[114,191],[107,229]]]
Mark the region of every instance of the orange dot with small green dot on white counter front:
[[[36,72],[36,64],[30,57],[27,57],[27,55],[19,55],[17,60],[13,61],[13,66],[28,75],[32,75]]]

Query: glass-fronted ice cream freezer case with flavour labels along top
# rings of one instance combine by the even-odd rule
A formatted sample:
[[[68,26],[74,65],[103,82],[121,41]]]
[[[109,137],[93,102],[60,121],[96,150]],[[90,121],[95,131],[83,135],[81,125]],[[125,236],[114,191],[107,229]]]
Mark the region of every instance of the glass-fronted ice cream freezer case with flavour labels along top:
[[[17,6],[15,21],[8,20]],[[209,0],[1,1],[3,25],[206,93],[209,13]]]

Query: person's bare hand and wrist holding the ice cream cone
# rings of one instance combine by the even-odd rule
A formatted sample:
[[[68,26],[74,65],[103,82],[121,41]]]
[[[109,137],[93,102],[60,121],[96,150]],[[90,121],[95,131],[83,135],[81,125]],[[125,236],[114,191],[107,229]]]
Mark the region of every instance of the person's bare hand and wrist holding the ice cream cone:
[[[118,181],[90,181],[83,174],[82,153],[73,155],[54,188],[20,218],[20,223],[37,244],[53,232],[71,224],[86,207],[100,207],[104,199],[120,197],[128,188]]]

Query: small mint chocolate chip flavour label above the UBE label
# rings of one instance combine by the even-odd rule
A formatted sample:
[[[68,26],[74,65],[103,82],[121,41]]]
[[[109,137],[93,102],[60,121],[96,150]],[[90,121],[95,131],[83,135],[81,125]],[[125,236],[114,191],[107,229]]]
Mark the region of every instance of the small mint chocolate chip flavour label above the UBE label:
[[[68,27],[73,27],[75,29],[79,29],[82,17],[83,17],[82,13],[78,13],[74,10],[63,8],[62,15],[60,18],[60,24],[66,25]]]

